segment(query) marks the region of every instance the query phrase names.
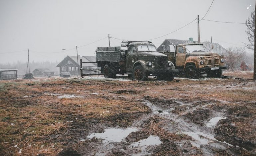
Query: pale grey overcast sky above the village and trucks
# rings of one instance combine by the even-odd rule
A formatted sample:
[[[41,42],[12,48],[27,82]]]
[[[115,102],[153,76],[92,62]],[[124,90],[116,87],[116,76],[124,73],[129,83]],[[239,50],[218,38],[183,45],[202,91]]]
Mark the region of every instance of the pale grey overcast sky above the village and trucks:
[[[202,18],[211,3],[212,0],[0,0],[0,63],[26,62],[28,48],[30,61],[60,62],[64,58],[62,49],[66,49],[65,56],[76,56],[76,46],[78,55],[94,56],[96,47],[108,46],[108,34],[114,37],[110,38],[111,46],[120,46],[118,39],[157,38],[195,20],[197,15]],[[204,19],[245,22],[254,8],[255,0],[214,0]],[[224,48],[248,42],[245,30],[245,24],[200,21],[201,41],[210,41],[212,36],[212,41]],[[189,37],[197,40],[197,20],[152,42],[158,47],[165,39]]]

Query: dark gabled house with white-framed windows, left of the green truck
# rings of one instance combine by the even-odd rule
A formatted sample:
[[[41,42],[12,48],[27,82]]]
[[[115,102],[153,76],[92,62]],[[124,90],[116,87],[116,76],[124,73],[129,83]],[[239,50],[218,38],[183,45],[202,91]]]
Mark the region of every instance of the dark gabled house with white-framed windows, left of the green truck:
[[[60,67],[60,74],[64,72],[69,72],[70,75],[78,75],[80,73],[80,59],[83,62],[95,62],[95,56],[80,56],[78,55],[78,63],[77,56],[66,56],[64,60],[62,60],[57,67]],[[85,69],[83,73],[90,73],[90,71],[95,70],[97,68],[96,63],[84,63],[83,68]]]

